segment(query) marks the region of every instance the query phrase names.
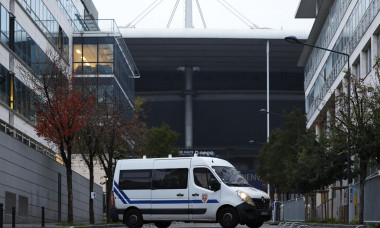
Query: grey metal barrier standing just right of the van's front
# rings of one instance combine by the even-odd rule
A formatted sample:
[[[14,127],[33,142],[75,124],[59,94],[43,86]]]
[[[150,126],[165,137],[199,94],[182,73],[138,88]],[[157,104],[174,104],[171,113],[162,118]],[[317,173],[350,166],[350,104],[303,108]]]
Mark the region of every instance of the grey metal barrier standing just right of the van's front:
[[[285,221],[305,221],[305,200],[298,198],[283,203]]]

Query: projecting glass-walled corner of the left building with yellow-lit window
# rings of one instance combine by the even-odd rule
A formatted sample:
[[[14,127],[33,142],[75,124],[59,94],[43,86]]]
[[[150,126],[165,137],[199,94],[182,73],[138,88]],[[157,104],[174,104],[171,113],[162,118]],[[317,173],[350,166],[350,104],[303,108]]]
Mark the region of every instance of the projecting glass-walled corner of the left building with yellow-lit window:
[[[96,89],[98,102],[111,101],[131,110],[134,79],[129,64],[114,37],[75,37],[73,70],[82,75],[78,83]]]

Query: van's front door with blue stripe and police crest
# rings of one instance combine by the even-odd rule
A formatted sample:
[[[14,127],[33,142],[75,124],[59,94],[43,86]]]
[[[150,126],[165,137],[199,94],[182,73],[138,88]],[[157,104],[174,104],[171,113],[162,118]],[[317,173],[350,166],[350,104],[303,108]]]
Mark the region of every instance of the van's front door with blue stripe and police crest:
[[[192,219],[211,221],[216,219],[221,190],[211,190],[210,180],[213,178],[216,179],[208,167],[192,168],[189,191]]]

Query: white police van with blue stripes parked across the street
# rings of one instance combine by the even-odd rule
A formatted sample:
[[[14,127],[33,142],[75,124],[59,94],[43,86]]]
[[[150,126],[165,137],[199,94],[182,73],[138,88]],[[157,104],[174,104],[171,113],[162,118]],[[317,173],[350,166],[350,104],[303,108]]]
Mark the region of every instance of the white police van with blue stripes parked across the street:
[[[172,221],[258,228],[272,216],[266,193],[229,162],[211,157],[119,160],[112,198],[118,218],[130,228],[168,227]]]

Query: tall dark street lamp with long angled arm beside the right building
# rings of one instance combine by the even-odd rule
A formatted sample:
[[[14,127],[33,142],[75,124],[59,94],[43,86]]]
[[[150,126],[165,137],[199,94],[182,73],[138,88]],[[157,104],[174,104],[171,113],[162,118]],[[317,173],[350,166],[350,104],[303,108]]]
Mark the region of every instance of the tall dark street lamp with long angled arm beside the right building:
[[[318,49],[322,49],[322,50],[325,50],[325,51],[333,52],[333,53],[336,53],[336,54],[339,54],[339,55],[344,55],[345,57],[347,57],[347,68],[348,68],[348,72],[347,72],[347,116],[348,116],[348,119],[350,119],[351,118],[351,108],[350,108],[350,103],[351,103],[351,101],[350,101],[351,100],[350,55],[347,54],[347,53],[344,53],[344,52],[339,52],[339,51],[335,51],[335,50],[331,50],[331,49],[327,49],[327,48],[318,47],[318,46],[315,46],[315,45],[304,43],[304,42],[298,40],[297,37],[295,37],[295,36],[285,37],[285,40],[288,41],[289,43],[292,43],[292,44],[301,44],[301,45],[305,45],[305,46],[309,46],[309,47],[313,47],[313,48],[318,48]],[[352,182],[350,128],[347,128],[347,135],[348,135],[347,136],[347,182],[348,182],[348,184],[350,184]]]

